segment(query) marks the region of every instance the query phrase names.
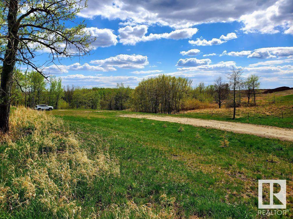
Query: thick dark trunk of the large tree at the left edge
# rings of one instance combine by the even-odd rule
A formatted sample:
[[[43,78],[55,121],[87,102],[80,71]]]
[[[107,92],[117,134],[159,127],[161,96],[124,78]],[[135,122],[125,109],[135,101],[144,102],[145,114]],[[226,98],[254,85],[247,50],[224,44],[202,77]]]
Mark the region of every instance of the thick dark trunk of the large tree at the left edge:
[[[1,84],[0,84],[0,131],[9,131],[9,112],[10,112],[10,92],[12,84],[13,69],[15,65],[16,48],[18,46],[16,16],[18,11],[18,1],[9,1],[8,21],[8,43],[4,56]]]

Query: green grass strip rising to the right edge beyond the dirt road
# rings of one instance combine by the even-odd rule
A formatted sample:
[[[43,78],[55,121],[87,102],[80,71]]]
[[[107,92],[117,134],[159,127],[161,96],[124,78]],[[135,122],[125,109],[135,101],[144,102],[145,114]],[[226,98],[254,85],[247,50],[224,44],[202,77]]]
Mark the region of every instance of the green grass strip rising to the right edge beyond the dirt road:
[[[285,106],[285,107],[284,107]],[[270,109],[270,106],[267,106]],[[276,104],[271,105],[272,108],[275,108],[276,111],[270,112],[269,115],[266,114],[264,106],[259,106],[256,109],[251,107],[249,112],[249,117],[247,112],[243,113],[243,109],[236,109],[236,116],[241,112],[241,117],[237,117],[236,119],[232,119],[233,112],[226,112],[223,114],[217,114],[217,112],[213,112],[210,109],[208,113],[185,113],[172,115],[176,117],[187,117],[187,118],[198,118],[198,119],[213,119],[220,121],[231,121],[231,122],[242,122],[242,123],[250,123],[256,125],[266,125],[266,126],[277,126],[282,128],[293,128],[293,95],[286,95],[277,97]],[[285,108],[285,109],[283,109]],[[245,109],[245,108],[244,108]],[[249,109],[249,108],[246,108]],[[225,111],[226,109],[222,109]],[[253,112],[255,110],[255,112]],[[262,112],[263,111],[263,112]],[[283,112],[283,118],[282,113]],[[270,115],[272,114],[272,115]]]

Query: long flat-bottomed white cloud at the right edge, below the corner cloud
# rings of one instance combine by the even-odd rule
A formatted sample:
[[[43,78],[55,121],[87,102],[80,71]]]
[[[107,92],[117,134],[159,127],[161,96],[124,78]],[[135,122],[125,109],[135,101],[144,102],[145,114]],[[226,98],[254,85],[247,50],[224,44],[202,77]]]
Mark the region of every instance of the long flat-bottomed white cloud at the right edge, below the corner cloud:
[[[276,58],[276,57],[292,57],[293,47],[268,47],[255,49],[247,58]]]

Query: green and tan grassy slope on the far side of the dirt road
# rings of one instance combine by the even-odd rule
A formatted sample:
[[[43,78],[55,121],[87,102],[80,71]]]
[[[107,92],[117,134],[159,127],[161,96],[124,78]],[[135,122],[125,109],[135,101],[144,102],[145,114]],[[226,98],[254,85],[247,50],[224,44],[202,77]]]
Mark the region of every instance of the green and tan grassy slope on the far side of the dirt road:
[[[290,90],[291,91],[291,90]],[[236,119],[233,120],[233,109],[198,109],[193,112],[181,113],[174,116],[214,119],[221,121],[235,121],[251,123],[256,125],[277,126],[283,128],[293,128],[293,94],[285,92],[276,92],[276,103],[268,104],[266,95],[258,98],[258,106],[241,107],[236,109]],[[288,92],[289,93],[289,92]],[[281,96],[284,95],[284,96]],[[213,115],[212,115],[213,113]],[[282,118],[283,113],[283,118]]]

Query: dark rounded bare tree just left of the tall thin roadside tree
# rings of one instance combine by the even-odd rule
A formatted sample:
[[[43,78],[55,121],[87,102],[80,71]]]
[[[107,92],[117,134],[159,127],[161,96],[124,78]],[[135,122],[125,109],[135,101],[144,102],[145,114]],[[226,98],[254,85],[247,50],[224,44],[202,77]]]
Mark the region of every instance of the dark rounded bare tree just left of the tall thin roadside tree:
[[[219,76],[214,81],[214,101],[221,108],[222,104],[226,101],[229,95],[229,85],[223,80],[222,76]]]

